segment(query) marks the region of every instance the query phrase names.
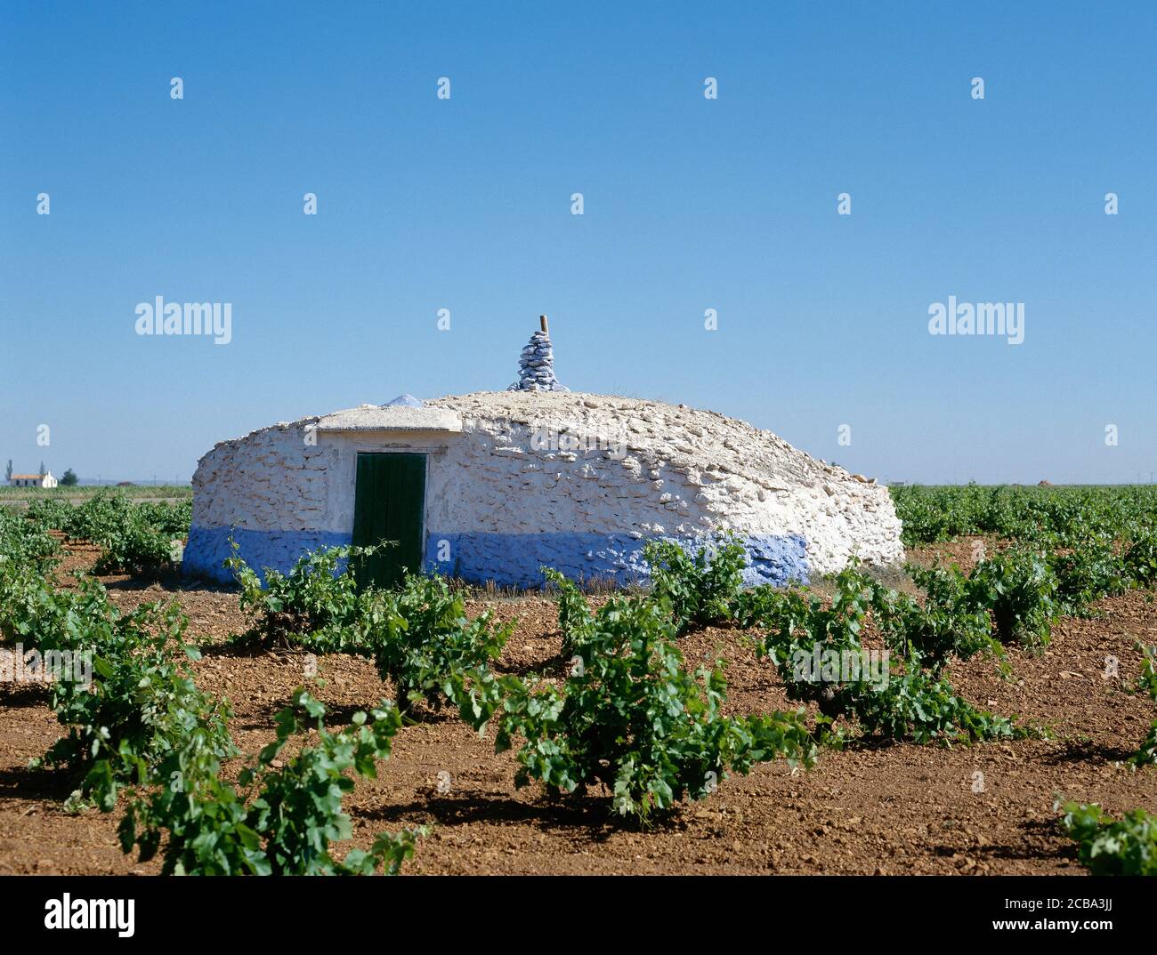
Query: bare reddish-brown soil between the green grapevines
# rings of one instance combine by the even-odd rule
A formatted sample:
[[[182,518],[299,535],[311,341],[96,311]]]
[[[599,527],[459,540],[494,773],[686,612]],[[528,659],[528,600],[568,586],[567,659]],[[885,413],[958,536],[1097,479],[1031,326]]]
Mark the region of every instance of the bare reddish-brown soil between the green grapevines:
[[[971,554],[968,541],[957,541],[911,556],[967,567]],[[72,562],[93,556],[78,553]],[[190,634],[207,650],[196,666],[198,683],[230,701],[237,745],[253,754],[273,738],[274,713],[304,680],[304,654],[223,652],[223,637],[245,625],[228,591],[105,583],[126,608],[179,600]],[[484,606],[518,620],[501,669],[559,672],[552,602],[473,600],[471,612]],[[1047,725],[1049,740],[855,745],[823,753],[812,770],[773,763],[730,777],[671,824],[639,831],[617,824],[599,794],[550,802],[535,786],[515,790],[511,754],[496,756],[491,740],[449,713],[425,713],[401,731],[379,778],[360,782],[347,799],[353,842],[368,846],[383,829],[433,824],[407,864],[412,873],[1081,873],[1055,823],[1057,798],[1097,801],[1113,813],[1157,810],[1157,769],[1121,763],[1155,716],[1130,688],[1141,666],[1134,644],[1157,643],[1157,605],[1152,594],[1134,592],[1097,610],[1096,619],[1060,621],[1044,652],[1011,651],[1011,679],[979,659],[951,674],[964,697]],[[681,646],[688,661],[715,654],[730,661],[735,711],[788,705],[775,672],[738,631],[707,629]],[[1106,657],[1120,661],[1118,676],[1105,678]],[[318,668],[324,684],[316,695],[334,723],[391,695],[364,660],[325,657]],[[25,768],[59,735],[45,699],[35,687],[0,686],[0,873],[156,872],[156,863],[121,854],[119,814],[69,815],[62,808],[69,780]],[[450,779],[444,794],[442,771]]]

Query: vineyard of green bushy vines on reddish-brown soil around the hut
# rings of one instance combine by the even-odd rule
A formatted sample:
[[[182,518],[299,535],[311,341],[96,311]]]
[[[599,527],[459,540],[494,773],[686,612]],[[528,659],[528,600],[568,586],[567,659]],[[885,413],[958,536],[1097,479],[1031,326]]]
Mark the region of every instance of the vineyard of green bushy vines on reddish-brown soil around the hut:
[[[0,872],[1157,874],[1157,489],[892,495],[902,572],[517,597],[0,506]]]

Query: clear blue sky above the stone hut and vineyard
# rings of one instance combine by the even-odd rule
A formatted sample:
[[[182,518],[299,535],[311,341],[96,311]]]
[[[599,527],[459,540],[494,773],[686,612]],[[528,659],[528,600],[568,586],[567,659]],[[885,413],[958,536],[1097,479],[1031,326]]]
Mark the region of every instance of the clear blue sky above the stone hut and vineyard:
[[[504,388],[546,312],[573,390],[885,480],[1157,471],[1154,5],[417,6],[0,7],[0,459],[187,480]],[[233,341],[138,335],[159,295]]]

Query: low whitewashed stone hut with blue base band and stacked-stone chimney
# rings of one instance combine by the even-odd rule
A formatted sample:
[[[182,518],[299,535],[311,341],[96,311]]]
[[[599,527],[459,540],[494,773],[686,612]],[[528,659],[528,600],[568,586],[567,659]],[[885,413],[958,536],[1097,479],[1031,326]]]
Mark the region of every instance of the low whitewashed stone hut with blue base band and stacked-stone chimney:
[[[545,319],[528,349],[508,391],[403,395],[218,444],[193,476],[186,571],[228,579],[230,538],[282,571],[320,546],[391,540],[383,584],[427,569],[538,586],[543,567],[646,583],[646,541],[716,528],[743,540],[751,584],[904,558],[886,488],[715,412],[569,392]]]

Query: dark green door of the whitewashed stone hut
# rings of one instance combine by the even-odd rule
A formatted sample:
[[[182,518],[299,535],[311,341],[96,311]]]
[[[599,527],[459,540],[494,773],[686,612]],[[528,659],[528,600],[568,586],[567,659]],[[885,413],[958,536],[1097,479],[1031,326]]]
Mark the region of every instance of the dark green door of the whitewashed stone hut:
[[[421,570],[426,505],[425,454],[359,454],[354,491],[354,545],[397,541],[358,568],[359,583],[392,587],[403,571]]]

